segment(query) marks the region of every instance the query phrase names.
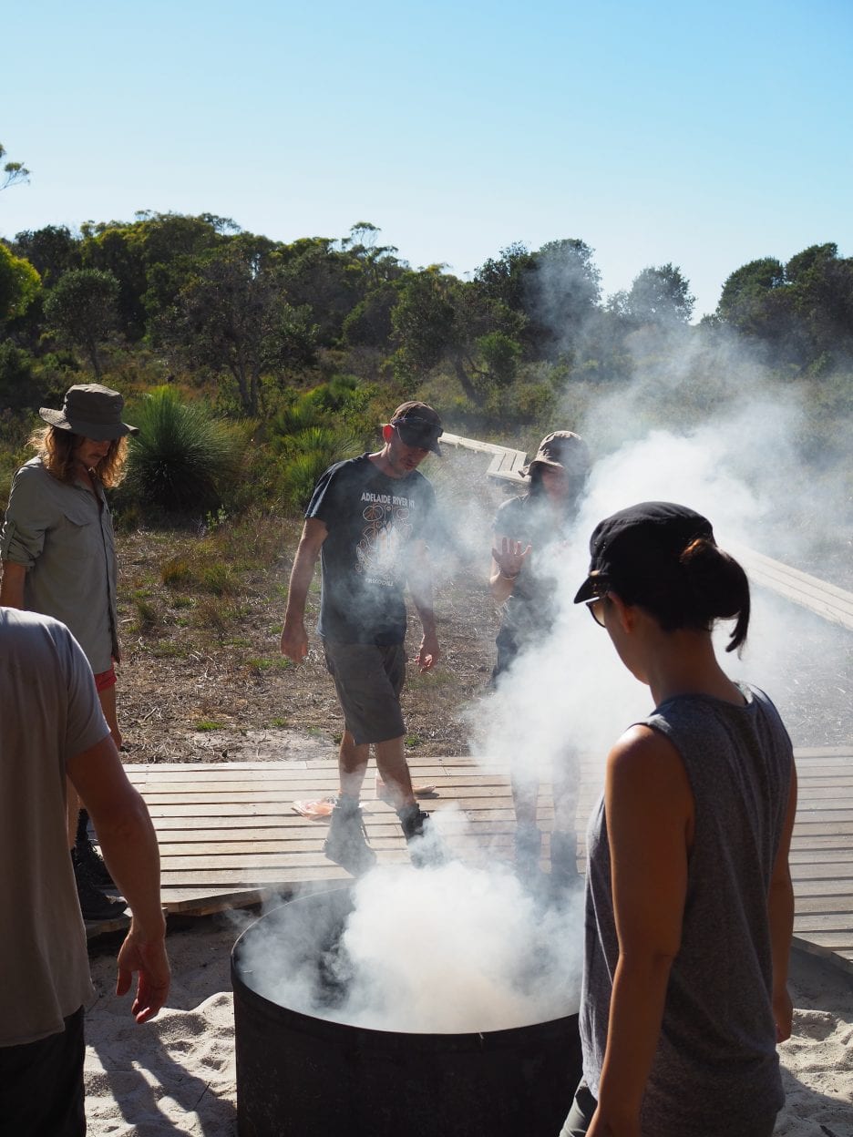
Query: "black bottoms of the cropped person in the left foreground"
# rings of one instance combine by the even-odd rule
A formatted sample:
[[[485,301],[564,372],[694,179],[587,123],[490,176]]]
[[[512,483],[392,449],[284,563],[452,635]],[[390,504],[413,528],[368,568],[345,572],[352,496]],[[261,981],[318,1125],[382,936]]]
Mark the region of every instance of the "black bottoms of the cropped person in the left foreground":
[[[0,1137],[84,1137],[83,1007],[65,1030],[0,1046]]]

